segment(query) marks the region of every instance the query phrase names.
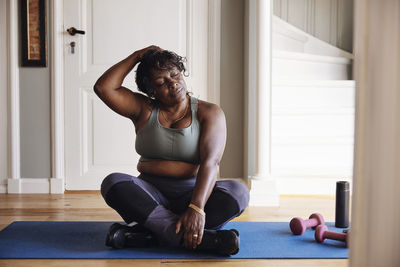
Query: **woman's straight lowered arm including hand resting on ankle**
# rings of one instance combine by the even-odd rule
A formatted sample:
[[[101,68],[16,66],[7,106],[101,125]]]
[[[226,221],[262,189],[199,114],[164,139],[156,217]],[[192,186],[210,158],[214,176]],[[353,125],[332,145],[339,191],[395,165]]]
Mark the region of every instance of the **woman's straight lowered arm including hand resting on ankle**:
[[[202,105],[199,105],[198,115],[201,123],[200,167],[191,204],[204,210],[213,191],[219,162],[225,149],[226,121],[222,109],[211,103],[202,102]],[[201,243],[204,225],[205,216],[188,208],[177,222],[176,232],[178,233],[183,226],[185,246],[194,249]]]

